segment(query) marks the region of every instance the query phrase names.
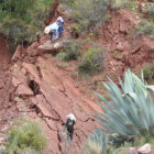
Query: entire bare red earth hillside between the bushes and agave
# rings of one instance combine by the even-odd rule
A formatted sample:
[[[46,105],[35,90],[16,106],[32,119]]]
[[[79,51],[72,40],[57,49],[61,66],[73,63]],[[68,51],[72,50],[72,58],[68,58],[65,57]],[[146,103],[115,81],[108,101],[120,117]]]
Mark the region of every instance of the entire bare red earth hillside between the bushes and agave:
[[[69,153],[80,153],[88,134],[98,127],[89,116],[97,114],[100,109],[94,91],[99,91],[109,99],[105,89],[100,88],[101,81],[107,81],[109,76],[118,82],[118,77],[123,78],[127,68],[139,74],[154,58],[154,41],[143,31],[136,33],[136,29],[141,29],[141,21],[146,16],[144,4],[148,2],[135,2],[135,10],[134,7],[114,10],[113,6],[109,6],[110,16],[103,26],[97,29],[97,33],[96,30],[92,33],[77,31],[78,26],[70,18],[69,10],[65,10],[63,4],[56,4],[47,23],[53,23],[57,14],[63,15],[65,32],[61,40],[51,44],[50,37],[43,35],[40,42],[35,41],[26,47],[19,44],[13,55],[9,54],[7,40],[0,34],[1,144],[7,140],[6,130],[15,125],[12,121],[25,117],[41,121],[47,136],[45,153],[63,154],[63,123],[68,113],[74,113],[77,124]],[[66,62],[62,61],[61,53],[69,37],[74,42],[81,42],[81,45],[79,57]],[[106,48],[102,69],[92,75],[80,74],[79,65],[84,53],[96,45]]]

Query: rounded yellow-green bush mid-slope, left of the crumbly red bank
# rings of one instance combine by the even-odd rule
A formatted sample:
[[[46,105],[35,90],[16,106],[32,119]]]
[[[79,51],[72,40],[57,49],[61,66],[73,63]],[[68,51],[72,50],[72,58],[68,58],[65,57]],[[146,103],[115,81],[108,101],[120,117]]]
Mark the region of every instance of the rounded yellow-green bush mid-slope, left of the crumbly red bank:
[[[79,72],[86,74],[95,74],[103,68],[105,50],[89,48],[84,53],[84,57],[79,65]]]

